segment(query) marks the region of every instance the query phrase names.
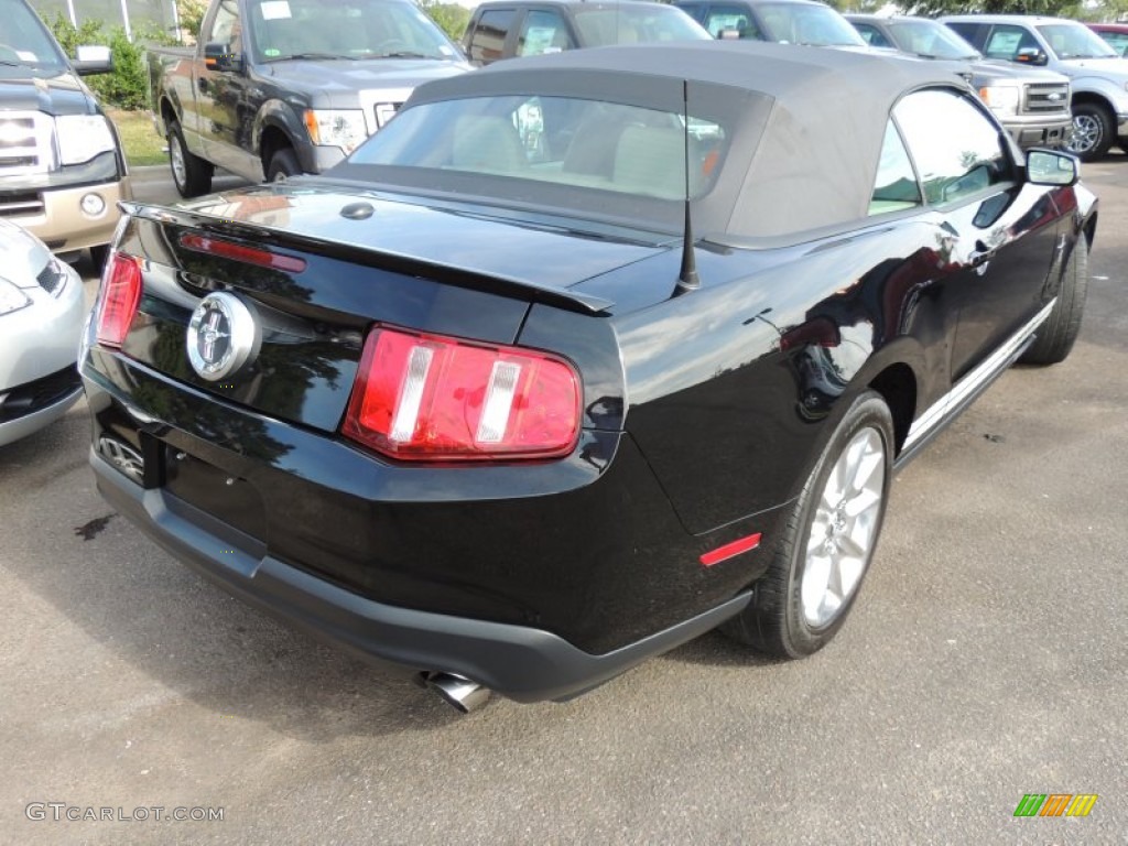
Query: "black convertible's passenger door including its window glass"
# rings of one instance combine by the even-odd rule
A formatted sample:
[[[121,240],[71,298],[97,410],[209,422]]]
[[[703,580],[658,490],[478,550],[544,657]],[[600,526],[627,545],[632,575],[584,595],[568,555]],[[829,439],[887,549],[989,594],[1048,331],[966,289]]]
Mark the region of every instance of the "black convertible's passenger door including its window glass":
[[[1004,131],[970,91],[916,91],[897,105],[893,117],[925,201],[951,235],[954,382],[1041,308],[1058,248],[1057,213],[1046,188],[1020,178]]]

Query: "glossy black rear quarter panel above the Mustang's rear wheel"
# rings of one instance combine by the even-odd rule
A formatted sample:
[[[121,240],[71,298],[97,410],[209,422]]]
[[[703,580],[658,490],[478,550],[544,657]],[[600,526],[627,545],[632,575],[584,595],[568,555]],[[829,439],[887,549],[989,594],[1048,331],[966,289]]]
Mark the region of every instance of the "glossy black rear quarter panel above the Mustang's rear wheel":
[[[948,389],[957,312],[944,232],[928,215],[875,231],[616,321],[627,429],[689,531],[796,496],[835,405],[887,344],[914,340],[918,407]],[[719,264],[703,262],[703,279]]]

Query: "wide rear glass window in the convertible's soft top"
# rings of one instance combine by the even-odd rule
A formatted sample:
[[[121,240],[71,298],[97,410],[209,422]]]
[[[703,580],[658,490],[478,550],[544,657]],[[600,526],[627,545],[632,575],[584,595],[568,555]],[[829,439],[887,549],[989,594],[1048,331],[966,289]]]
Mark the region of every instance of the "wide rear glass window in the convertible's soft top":
[[[512,195],[520,191],[512,180],[519,180],[527,192],[575,190],[575,196],[592,195],[590,204],[598,204],[596,193],[680,201],[687,160],[689,196],[698,199],[719,178],[730,134],[722,122],[691,111],[687,121],[672,112],[573,97],[470,97],[404,111],[349,165],[395,168],[416,185],[457,184],[465,193]],[[452,183],[457,175],[476,178]]]

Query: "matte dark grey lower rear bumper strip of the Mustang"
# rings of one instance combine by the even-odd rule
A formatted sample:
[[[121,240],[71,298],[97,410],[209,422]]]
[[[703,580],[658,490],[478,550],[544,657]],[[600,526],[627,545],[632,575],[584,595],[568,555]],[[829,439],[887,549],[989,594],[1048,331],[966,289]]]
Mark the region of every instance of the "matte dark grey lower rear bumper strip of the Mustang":
[[[566,699],[739,613],[750,593],[605,654],[543,629],[400,608],[367,599],[282,561],[255,558],[206,529],[208,517],[159,488],[146,490],[91,449],[98,488],[122,514],[229,593],[363,658],[444,670],[518,702]]]

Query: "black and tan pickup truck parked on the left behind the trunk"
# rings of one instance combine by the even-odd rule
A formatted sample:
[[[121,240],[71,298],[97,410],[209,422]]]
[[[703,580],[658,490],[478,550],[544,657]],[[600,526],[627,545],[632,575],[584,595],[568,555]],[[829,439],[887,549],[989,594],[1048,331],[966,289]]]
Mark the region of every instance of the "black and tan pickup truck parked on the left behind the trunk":
[[[319,174],[415,86],[470,69],[411,0],[212,0],[194,49],[149,56],[151,105],[182,195],[221,167]]]

